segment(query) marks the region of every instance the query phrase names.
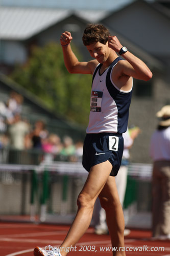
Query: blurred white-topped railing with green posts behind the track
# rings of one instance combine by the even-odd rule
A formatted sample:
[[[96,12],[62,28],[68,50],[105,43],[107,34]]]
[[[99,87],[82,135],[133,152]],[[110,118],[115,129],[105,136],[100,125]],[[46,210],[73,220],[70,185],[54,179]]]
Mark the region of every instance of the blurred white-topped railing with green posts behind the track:
[[[27,216],[33,222],[71,223],[87,174],[81,162],[0,164],[0,219],[21,221]],[[127,225],[133,226],[141,214],[147,215],[145,225],[151,224],[151,175],[151,164],[129,165],[124,201]],[[136,219],[135,225],[143,222]]]

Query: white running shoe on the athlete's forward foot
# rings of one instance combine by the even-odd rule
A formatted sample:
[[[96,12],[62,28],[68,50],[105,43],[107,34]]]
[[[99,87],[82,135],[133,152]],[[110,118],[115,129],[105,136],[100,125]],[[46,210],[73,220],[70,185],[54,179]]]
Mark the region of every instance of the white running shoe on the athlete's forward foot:
[[[34,256],[62,256],[60,249],[51,245],[45,246],[45,250],[39,246],[34,248]]]

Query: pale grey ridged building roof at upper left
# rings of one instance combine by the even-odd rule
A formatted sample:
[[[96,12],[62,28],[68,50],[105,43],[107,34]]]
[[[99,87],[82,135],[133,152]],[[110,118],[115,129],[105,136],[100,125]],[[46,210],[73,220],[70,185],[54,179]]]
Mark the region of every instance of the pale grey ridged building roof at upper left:
[[[26,40],[42,30],[75,14],[87,22],[98,22],[104,18],[107,11],[89,11],[50,8],[0,8],[0,38],[4,40]]]

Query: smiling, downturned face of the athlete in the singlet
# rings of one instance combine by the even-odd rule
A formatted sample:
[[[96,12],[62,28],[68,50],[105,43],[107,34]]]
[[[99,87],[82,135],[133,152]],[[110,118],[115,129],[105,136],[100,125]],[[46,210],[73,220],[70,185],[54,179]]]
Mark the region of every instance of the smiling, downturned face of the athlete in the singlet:
[[[110,49],[108,44],[103,45],[101,42],[94,42],[93,44],[86,46],[91,57],[98,60],[99,63],[104,63],[109,56]]]

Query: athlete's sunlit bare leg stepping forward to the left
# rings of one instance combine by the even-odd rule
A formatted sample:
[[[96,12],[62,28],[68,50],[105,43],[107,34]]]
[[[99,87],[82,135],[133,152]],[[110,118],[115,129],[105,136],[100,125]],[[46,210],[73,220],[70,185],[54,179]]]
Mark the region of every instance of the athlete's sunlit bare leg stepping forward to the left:
[[[61,244],[60,253],[62,256],[65,256],[68,253],[64,248],[75,246],[88,229],[95,200],[108,180],[111,169],[112,165],[109,161],[91,167],[85,185],[78,197],[78,211],[76,218],[72,223],[65,240]]]

